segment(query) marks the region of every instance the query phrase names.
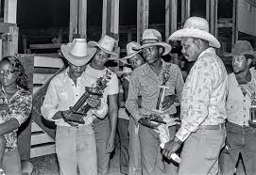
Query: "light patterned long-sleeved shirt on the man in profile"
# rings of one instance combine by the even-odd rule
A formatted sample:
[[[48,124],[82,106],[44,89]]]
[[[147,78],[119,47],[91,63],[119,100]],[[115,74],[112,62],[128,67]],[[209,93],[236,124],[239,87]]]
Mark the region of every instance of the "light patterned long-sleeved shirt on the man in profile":
[[[189,73],[181,95],[181,126],[176,136],[184,141],[199,125],[224,123],[228,74],[213,48],[203,51]]]

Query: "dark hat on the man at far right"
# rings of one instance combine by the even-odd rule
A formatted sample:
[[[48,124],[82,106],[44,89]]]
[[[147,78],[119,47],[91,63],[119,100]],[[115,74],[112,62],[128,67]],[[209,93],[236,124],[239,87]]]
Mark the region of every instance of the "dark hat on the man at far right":
[[[249,41],[247,40],[237,40],[232,48],[231,53],[225,54],[224,56],[243,56],[252,55],[256,56],[256,52],[253,51]]]

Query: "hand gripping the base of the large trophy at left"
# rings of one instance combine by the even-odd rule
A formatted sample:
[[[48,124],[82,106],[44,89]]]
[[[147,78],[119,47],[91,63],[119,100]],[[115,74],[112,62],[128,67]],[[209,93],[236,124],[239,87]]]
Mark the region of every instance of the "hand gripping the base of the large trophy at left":
[[[69,123],[71,126],[73,125],[77,126],[78,123],[80,124],[85,123],[83,119],[83,115],[73,113],[71,110],[62,111],[62,118],[64,119],[65,122]]]

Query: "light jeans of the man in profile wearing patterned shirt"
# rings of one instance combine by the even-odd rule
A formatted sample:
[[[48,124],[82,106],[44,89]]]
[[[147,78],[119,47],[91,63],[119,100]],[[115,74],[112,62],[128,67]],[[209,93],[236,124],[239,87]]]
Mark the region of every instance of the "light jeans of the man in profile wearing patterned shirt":
[[[225,137],[225,129],[198,129],[189,135],[181,151],[178,174],[217,174],[219,152],[225,144]]]

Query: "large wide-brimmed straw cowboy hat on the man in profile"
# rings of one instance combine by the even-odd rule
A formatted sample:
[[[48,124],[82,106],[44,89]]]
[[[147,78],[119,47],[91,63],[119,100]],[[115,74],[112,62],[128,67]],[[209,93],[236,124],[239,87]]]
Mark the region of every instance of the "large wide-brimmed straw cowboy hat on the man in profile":
[[[209,24],[204,18],[190,17],[182,29],[175,31],[169,40],[181,40],[183,37],[208,40],[210,46],[220,48],[220,43],[209,33]]]

